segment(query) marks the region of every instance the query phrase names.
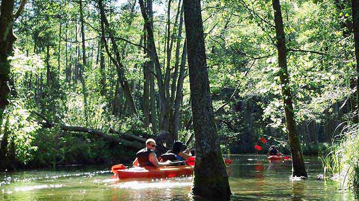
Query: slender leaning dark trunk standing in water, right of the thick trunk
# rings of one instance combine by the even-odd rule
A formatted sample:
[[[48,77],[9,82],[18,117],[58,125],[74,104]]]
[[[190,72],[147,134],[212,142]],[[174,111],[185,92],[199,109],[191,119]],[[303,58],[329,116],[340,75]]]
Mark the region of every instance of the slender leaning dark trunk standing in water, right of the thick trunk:
[[[279,0],[272,0],[274,10],[275,32],[278,49],[279,76],[282,85],[282,98],[284,102],[284,111],[286,115],[286,124],[289,136],[290,152],[292,154],[292,176],[307,177],[307,171],[304,166],[301,142],[295,127],[294,111],[292,105],[292,94],[289,86],[289,75],[287,70],[287,50],[283,28],[283,19],[281,5]]]

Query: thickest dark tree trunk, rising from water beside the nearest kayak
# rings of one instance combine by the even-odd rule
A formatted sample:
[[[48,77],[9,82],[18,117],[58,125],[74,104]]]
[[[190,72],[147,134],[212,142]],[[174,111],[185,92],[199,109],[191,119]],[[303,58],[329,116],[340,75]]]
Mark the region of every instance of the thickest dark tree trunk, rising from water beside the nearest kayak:
[[[192,193],[206,199],[228,200],[231,195],[222,158],[209,89],[201,1],[184,0],[188,69],[192,97],[196,163]]]

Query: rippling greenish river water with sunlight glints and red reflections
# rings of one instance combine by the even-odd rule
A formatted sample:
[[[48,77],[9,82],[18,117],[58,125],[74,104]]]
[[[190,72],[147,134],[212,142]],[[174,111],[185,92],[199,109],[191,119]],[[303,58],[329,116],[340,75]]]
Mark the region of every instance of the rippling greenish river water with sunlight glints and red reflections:
[[[322,164],[306,157],[309,179],[290,180],[291,161],[270,163],[265,155],[225,155],[231,200],[357,200],[334,181],[318,181]],[[121,181],[108,166],[0,172],[0,200],[192,200],[192,177]]]

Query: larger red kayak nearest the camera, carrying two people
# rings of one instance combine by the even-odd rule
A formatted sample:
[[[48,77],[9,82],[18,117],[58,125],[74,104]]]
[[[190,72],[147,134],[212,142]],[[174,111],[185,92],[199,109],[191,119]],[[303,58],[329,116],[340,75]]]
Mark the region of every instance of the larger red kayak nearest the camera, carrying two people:
[[[180,176],[189,176],[193,174],[193,166],[166,166],[166,167],[131,167],[123,170],[118,170],[118,178],[172,178]]]

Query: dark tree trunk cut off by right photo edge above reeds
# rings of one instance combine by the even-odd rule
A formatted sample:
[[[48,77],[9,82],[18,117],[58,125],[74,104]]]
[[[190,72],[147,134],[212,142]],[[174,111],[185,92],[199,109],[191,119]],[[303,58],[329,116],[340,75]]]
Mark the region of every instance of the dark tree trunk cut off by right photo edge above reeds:
[[[351,10],[353,16],[353,32],[354,32],[354,47],[355,47],[355,59],[356,59],[356,122],[359,122],[359,1],[351,0]]]

